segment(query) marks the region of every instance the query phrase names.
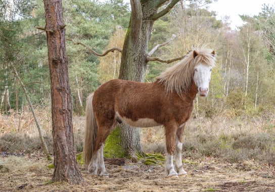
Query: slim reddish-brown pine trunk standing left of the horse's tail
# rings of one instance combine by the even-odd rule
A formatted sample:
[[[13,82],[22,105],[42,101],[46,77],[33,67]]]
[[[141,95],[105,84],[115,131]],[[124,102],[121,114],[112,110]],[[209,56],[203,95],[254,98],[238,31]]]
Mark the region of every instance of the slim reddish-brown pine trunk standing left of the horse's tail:
[[[84,184],[74,151],[71,90],[65,49],[65,24],[62,15],[62,1],[44,0],[44,8],[52,92],[55,157],[53,181]]]

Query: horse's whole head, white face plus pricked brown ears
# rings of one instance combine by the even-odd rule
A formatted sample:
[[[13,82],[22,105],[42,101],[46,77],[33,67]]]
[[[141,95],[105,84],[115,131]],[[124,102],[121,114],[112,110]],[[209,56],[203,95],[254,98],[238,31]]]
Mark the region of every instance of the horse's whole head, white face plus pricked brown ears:
[[[196,57],[200,57],[200,54],[196,51],[193,51],[193,57],[196,59]],[[215,52],[211,52],[211,57],[214,58]],[[198,87],[198,93],[200,96],[205,97],[208,94],[209,90],[209,83],[211,80],[211,72],[212,72],[212,65],[209,64],[207,61],[210,61],[208,59],[205,59],[202,56],[202,59],[199,60],[199,62],[194,67],[194,82]]]

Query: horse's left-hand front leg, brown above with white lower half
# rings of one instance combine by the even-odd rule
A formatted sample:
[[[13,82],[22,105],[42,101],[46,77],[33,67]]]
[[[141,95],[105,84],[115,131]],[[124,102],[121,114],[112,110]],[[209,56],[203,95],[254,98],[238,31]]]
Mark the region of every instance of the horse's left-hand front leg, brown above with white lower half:
[[[176,126],[165,126],[166,135],[166,163],[165,163],[165,174],[167,177],[177,176],[177,172],[174,170],[173,165],[173,155],[175,150],[175,136],[176,136]]]

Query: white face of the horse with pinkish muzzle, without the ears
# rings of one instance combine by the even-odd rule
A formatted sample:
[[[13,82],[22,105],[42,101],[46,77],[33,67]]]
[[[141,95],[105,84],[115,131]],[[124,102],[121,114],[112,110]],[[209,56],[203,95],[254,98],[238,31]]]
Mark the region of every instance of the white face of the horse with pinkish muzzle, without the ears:
[[[205,97],[208,93],[211,80],[212,67],[199,64],[195,67],[194,81],[198,87],[199,95]]]

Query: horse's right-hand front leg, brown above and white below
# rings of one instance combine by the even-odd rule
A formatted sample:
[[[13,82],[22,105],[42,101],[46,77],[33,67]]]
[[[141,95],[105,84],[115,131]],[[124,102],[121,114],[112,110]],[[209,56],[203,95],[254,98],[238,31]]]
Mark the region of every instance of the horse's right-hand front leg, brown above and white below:
[[[185,125],[178,127],[176,132],[176,144],[175,144],[175,170],[178,175],[185,175],[187,172],[184,170],[182,166],[182,133],[184,132]]]

